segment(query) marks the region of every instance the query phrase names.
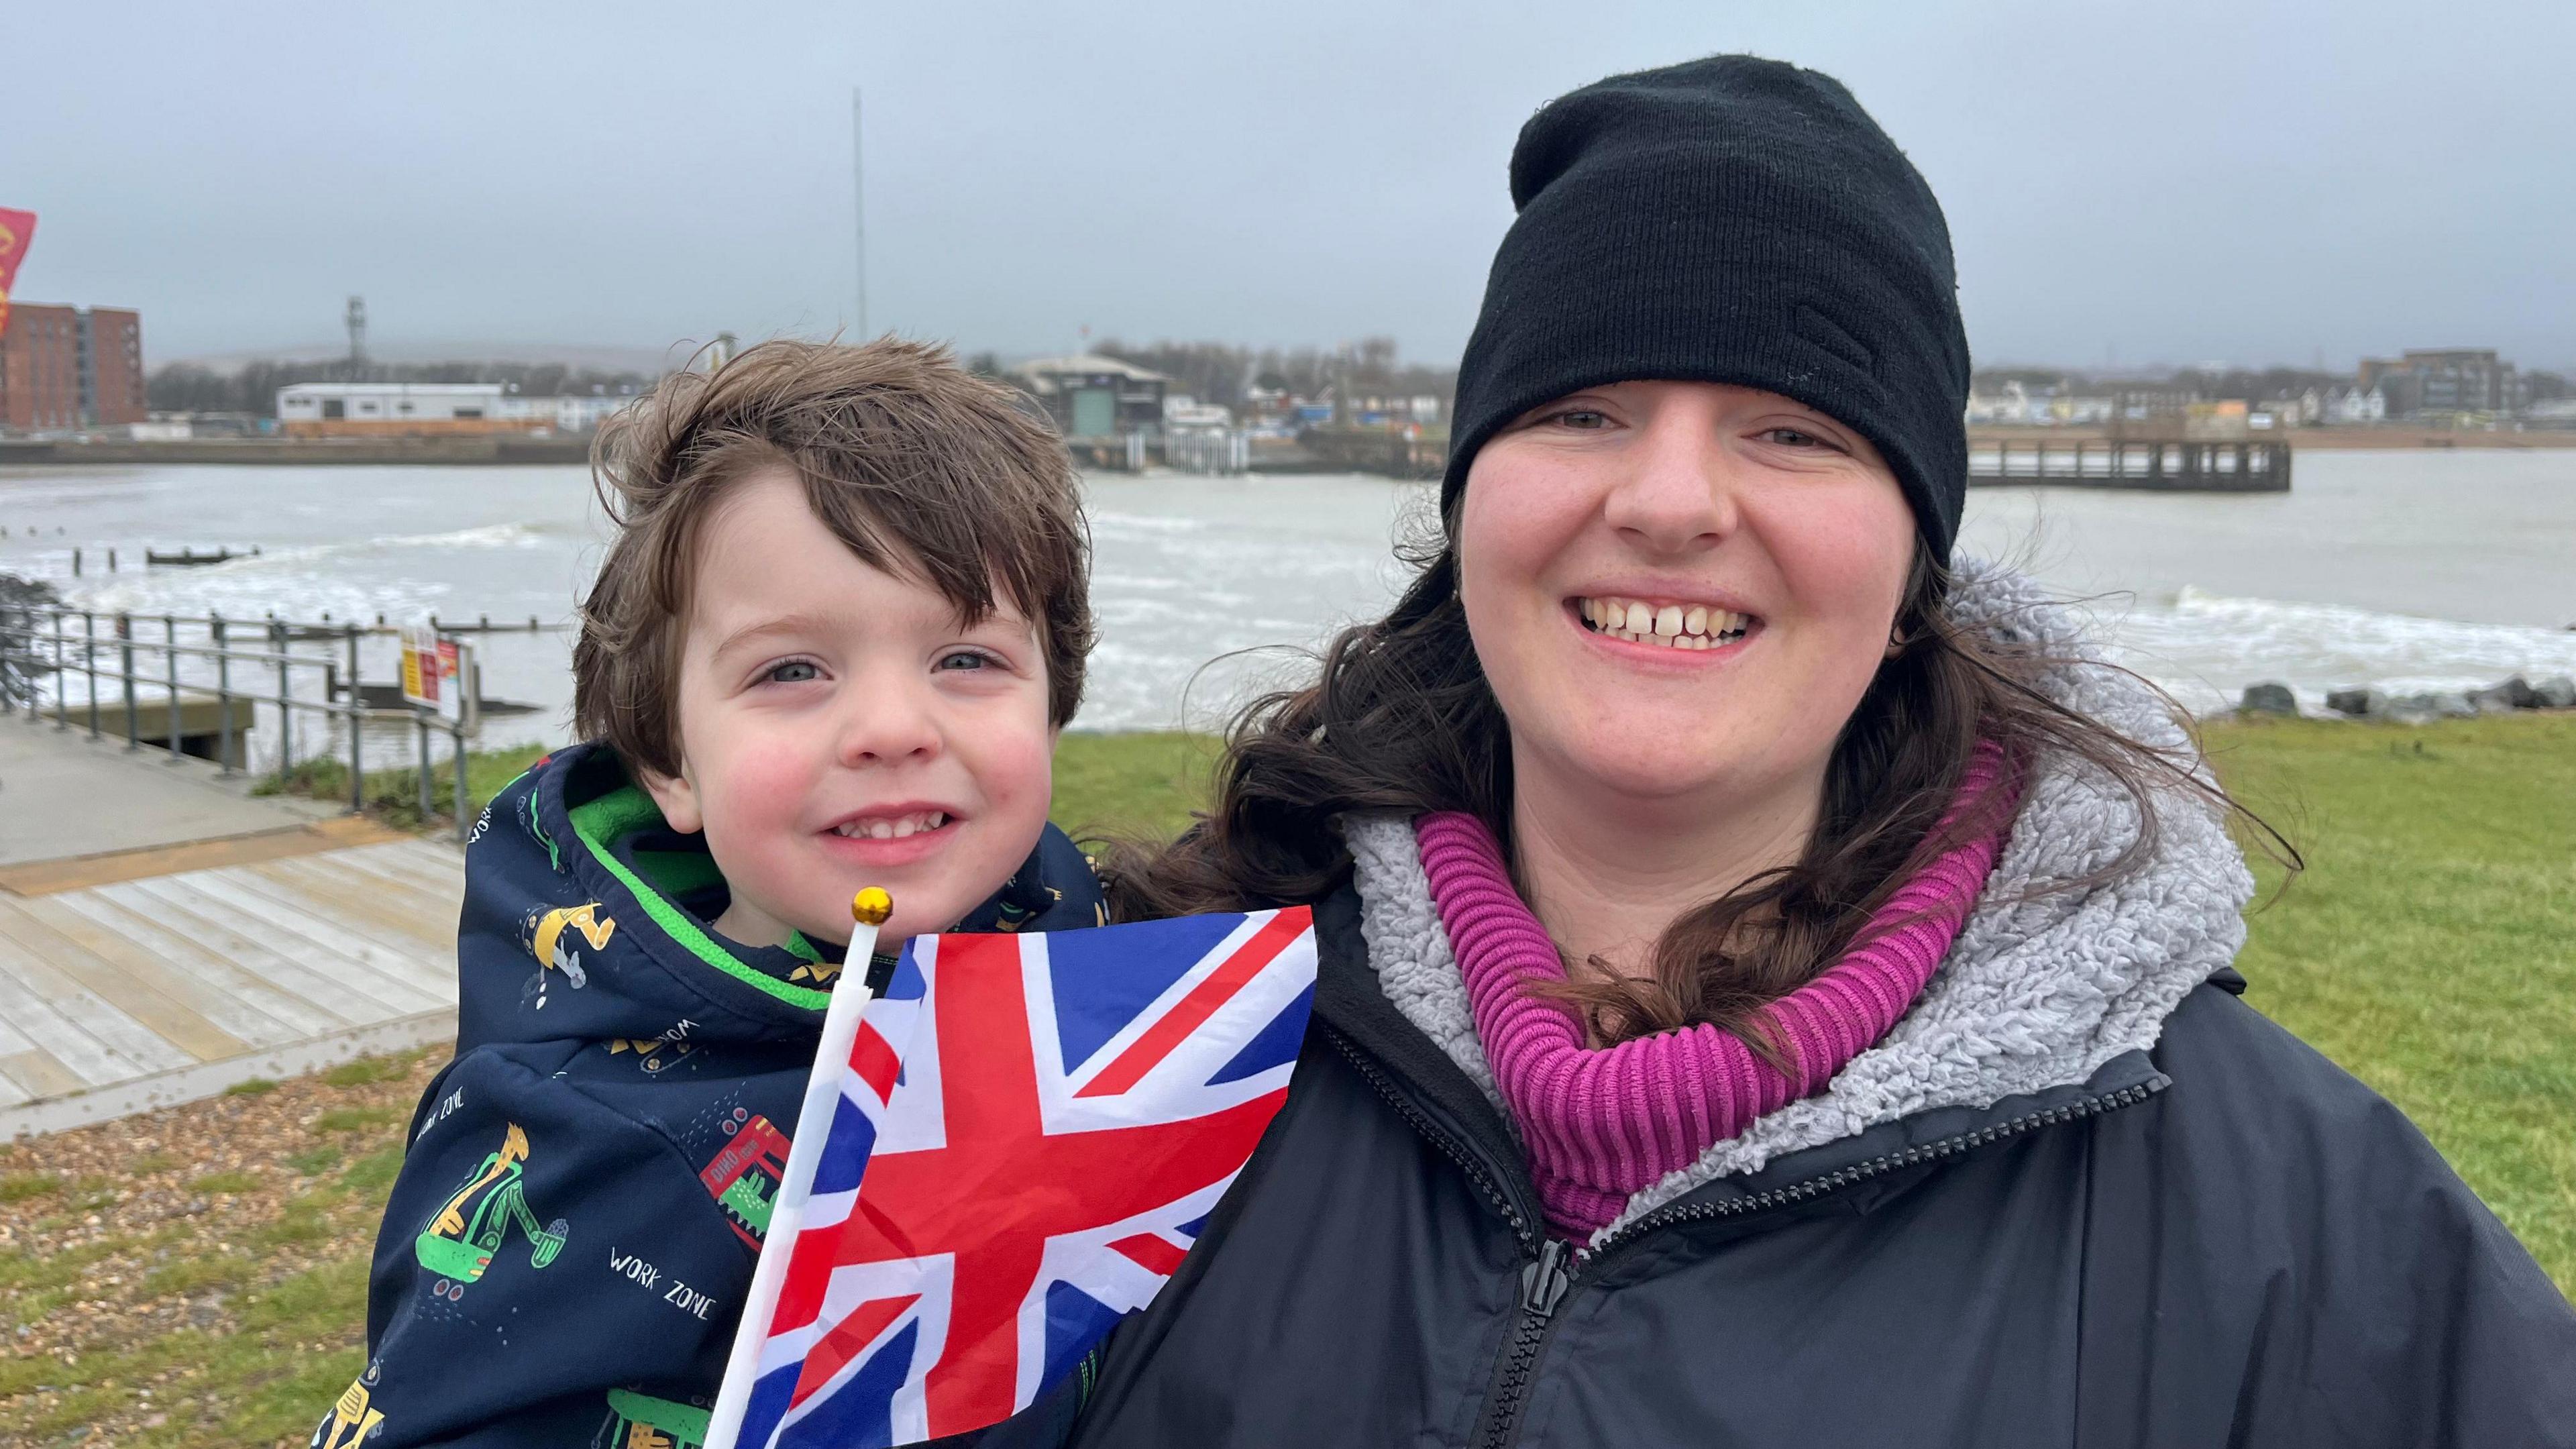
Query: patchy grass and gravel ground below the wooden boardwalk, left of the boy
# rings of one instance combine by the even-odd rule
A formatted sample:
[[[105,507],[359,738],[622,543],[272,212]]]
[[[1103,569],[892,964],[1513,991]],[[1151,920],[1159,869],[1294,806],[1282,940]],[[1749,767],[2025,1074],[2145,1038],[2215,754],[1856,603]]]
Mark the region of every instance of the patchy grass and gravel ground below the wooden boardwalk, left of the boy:
[[[446,1052],[0,1147],[0,1441],[304,1444]]]

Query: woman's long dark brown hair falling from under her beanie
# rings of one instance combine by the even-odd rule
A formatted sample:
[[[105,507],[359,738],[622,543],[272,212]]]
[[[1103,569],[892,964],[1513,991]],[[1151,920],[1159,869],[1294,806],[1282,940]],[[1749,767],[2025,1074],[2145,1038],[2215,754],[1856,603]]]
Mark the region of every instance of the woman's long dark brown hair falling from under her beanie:
[[[1319,900],[1350,871],[1345,815],[1466,810],[1512,856],[1510,730],[1468,637],[1455,547],[1440,539],[1399,552],[1419,572],[1394,611],[1334,637],[1314,683],[1262,696],[1234,719],[1213,810],[1162,851],[1110,848],[1121,918]],[[1685,910],[1646,975],[1602,972],[1551,990],[1597,1039],[1705,1021],[1777,1062],[1762,1006],[1834,964],[1922,864],[2004,828],[2009,792],[1986,792],[1945,822],[1978,740],[2022,763],[2045,750],[2076,755],[2138,804],[2128,851],[2061,890],[2117,879],[2154,853],[2156,794],[2179,789],[2244,815],[2197,771],[2197,755],[2128,740],[2056,704],[2040,676],[2069,660],[1960,627],[1950,585],[1919,547],[1896,655],[1834,743],[1803,856]],[[2295,866],[2295,851],[2254,825]]]

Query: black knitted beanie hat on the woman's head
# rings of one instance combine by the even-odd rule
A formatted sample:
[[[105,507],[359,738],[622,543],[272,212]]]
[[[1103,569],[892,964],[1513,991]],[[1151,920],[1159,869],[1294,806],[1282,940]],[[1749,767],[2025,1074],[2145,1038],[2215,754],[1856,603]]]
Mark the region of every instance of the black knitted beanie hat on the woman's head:
[[[1551,101],[1458,364],[1448,513],[1476,449],[1610,382],[1731,382],[1860,431],[1935,557],[1968,487],[1968,335],[1940,201],[1834,77],[1721,54]]]

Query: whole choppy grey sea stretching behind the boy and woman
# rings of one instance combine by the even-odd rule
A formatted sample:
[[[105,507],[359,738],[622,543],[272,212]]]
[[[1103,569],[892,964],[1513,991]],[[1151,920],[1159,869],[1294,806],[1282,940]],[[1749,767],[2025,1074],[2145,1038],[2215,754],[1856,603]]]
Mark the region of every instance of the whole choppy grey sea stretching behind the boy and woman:
[[[2339,686],[2576,673],[2576,451],[2295,467],[2287,495],[1976,490],[1960,552],[2081,601],[2112,657],[2192,709],[2257,681],[2313,709]],[[1430,485],[1355,474],[1090,474],[1084,495],[1100,650],[1082,730],[1208,727],[1293,683],[1303,650],[1396,596],[1394,541],[1432,508]],[[580,467],[0,469],[0,572],[82,608],[363,624],[564,624],[608,539]],[[147,544],[260,554],[144,567]],[[479,660],[484,694],[538,706],[484,743],[567,735],[569,634],[482,634]]]

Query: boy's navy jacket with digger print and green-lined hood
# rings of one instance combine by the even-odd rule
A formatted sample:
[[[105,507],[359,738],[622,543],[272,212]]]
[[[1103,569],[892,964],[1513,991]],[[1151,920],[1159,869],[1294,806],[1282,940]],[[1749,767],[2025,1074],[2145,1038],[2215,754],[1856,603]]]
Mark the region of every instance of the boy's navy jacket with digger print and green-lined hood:
[[[376,1238],[366,1372],[314,1431],[672,1449],[706,1408],[768,1227],[837,951],[708,931],[724,879],[580,745],[474,825],[456,1062]],[[1100,923],[1054,825],[963,931]]]

